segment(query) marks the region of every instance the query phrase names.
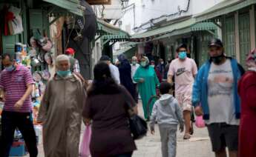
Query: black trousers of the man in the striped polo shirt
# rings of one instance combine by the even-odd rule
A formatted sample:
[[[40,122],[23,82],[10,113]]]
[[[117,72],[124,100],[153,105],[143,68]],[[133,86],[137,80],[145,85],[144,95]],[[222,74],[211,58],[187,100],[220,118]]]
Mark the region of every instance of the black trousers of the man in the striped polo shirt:
[[[16,128],[22,133],[30,157],[37,156],[36,133],[31,116],[31,113],[2,112],[0,157],[9,156]]]

